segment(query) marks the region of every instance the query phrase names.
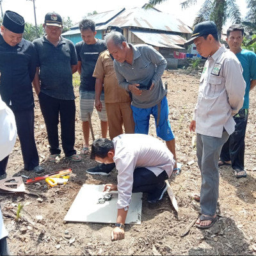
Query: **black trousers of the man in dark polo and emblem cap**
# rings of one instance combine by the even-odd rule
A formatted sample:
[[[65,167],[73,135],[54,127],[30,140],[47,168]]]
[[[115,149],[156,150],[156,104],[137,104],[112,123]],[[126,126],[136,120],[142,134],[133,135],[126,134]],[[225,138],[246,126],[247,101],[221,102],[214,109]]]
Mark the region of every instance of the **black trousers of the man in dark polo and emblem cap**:
[[[38,95],[40,108],[44,116],[51,155],[60,154],[58,124],[60,116],[61,143],[65,156],[76,154],[75,144],[75,100],[60,100],[45,93]]]

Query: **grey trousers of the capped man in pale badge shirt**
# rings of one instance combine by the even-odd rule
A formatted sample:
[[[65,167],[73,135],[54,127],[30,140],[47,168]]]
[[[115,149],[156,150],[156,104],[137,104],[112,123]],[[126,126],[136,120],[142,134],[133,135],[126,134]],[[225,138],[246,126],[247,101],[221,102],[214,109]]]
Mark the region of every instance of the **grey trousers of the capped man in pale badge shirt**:
[[[224,131],[221,138],[196,134],[196,156],[201,171],[201,213],[214,216],[219,197],[218,159],[223,144],[228,140]]]

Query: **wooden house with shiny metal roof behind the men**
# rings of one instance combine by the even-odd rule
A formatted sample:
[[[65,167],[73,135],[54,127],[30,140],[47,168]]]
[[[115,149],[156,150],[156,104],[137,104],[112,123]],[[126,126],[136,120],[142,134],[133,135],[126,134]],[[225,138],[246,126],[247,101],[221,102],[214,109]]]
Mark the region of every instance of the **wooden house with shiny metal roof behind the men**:
[[[168,63],[168,68],[177,68],[184,65],[186,49],[184,43],[191,35],[192,30],[180,19],[163,13],[156,8],[145,10],[132,8],[112,10],[97,13],[88,17],[96,23],[97,38],[102,39],[108,26],[118,26],[123,29],[127,42],[131,44],[152,45],[159,51]],[[62,34],[74,44],[81,41],[78,24]]]

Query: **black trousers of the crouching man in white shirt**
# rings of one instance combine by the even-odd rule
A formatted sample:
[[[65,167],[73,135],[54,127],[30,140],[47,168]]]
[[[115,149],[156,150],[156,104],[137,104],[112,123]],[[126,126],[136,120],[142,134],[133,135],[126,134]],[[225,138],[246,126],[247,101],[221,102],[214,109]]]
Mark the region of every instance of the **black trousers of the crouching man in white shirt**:
[[[158,176],[145,167],[136,168],[133,172],[132,193],[154,193],[156,189],[163,188],[164,180],[168,179],[163,170]]]

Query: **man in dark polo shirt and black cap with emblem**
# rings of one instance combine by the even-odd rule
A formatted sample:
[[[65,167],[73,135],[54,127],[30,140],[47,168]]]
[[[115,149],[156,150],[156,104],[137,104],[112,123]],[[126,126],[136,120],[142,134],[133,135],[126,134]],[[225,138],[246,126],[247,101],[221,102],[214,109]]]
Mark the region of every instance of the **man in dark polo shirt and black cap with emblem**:
[[[50,145],[49,161],[60,157],[58,123],[60,116],[61,143],[65,157],[79,162],[76,154],[75,119],[76,105],[72,74],[77,70],[77,56],[74,44],[61,36],[60,14],[49,12],[45,15],[46,35],[33,41],[36,49],[36,75],[33,81],[40,108],[45,120]]]

